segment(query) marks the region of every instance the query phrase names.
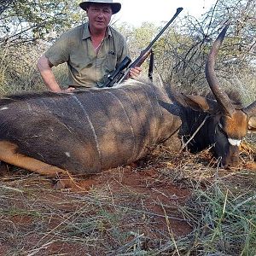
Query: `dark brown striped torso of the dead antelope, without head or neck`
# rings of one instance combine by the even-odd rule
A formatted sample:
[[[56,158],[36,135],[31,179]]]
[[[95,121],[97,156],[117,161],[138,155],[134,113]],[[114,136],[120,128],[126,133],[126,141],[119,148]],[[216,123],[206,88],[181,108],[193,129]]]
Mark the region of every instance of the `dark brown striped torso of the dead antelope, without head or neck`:
[[[79,173],[131,163],[178,129],[178,118],[160,107],[160,99],[168,100],[153,84],[140,82],[9,97],[0,102],[1,152],[11,143],[13,160],[5,161],[16,166],[19,153]]]

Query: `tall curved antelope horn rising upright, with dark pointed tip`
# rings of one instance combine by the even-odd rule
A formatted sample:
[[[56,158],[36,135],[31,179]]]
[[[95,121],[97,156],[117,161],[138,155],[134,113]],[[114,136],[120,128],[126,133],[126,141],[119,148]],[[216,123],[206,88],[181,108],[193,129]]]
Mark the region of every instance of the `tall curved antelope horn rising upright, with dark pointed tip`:
[[[224,40],[225,34],[229,26],[230,26],[230,23],[224,26],[224,29],[222,30],[222,32],[220,32],[220,34],[218,35],[218,38],[215,40],[215,42],[212,45],[212,49],[207,59],[206,77],[207,77],[207,82],[212,90],[212,93],[215,96],[215,99],[220,105],[221,109],[224,111],[224,113],[231,115],[235,111],[235,108],[230,102],[230,98],[219,87],[218,79],[214,71],[214,63],[215,63],[216,55],[218,54],[218,49],[220,48]]]

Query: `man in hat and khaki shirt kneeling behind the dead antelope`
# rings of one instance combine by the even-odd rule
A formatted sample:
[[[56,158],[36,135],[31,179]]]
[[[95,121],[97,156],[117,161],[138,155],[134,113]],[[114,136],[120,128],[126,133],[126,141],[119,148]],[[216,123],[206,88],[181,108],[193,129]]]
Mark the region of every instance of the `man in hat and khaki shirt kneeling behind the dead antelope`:
[[[70,86],[76,88],[102,87],[109,73],[119,66],[129,51],[125,38],[108,26],[112,15],[121,9],[113,0],[90,0],[80,3],[88,22],[61,35],[38,60],[38,70],[49,90],[61,92],[51,68],[67,62]],[[131,69],[137,77],[141,67]]]

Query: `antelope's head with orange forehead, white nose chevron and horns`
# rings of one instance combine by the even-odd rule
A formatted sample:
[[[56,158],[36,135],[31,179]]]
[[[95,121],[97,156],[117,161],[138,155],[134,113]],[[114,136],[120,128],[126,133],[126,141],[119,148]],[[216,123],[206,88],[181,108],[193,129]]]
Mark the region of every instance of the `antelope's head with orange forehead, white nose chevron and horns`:
[[[251,103],[246,108],[238,108],[230,101],[230,97],[224,90],[220,88],[214,71],[216,55],[229,25],[224,26],[212,45],[206,65],[207,82],[218,105],[213,138],[214,151],[221,159],[223,167],[237,164],[242,139],[247,135],[247,132],[255,132],[256,130],[256,102]]]

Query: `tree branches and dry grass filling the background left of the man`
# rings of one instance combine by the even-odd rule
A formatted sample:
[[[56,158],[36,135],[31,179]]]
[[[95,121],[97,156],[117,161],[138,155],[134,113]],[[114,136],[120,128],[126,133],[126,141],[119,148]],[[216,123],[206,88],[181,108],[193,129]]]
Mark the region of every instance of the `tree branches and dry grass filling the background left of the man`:
[[[82,22],[84,11],[79,8],[79,2],[3,1],[0,9],[1,95],[45,89],[36,63],[53,39]],[[62,71],[62,68],[56,70]],[[56,74],[57,79],[64,80],[62,74]]]

